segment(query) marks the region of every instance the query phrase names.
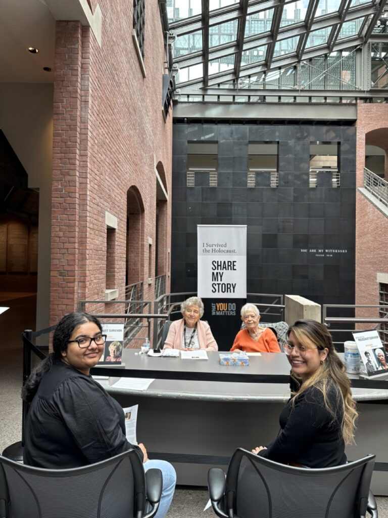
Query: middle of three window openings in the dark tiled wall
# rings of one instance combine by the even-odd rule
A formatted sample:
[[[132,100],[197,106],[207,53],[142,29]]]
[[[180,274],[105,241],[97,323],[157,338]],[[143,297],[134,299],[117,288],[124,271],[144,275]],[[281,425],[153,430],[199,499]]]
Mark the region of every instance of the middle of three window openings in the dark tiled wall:
[[[248,144],[247,187],[277,187],[278,142],[258,141]]]

